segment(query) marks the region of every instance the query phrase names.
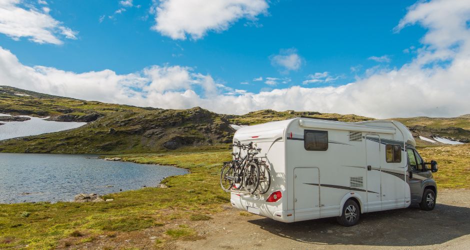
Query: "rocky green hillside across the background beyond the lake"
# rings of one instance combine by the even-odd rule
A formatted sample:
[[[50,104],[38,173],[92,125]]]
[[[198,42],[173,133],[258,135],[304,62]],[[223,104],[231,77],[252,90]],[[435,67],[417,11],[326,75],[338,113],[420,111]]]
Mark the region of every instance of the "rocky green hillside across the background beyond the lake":
[[[230,115],[217,114],[200,107],[181,110],[136,107],[54,96],[9,86],[0,86],[0,113],[88,122],[71,130],[0,141],[0,151],[3,152],[53,153],[154,152],[196,146],[225,147],[234,132],[230,124],[251,125],[301,115],[340,121],[373,119],[354,114],[315,111],[265,109],[244,115]],[[20,117],[3,119],[24,120]],[[460,141],[470,139],[470,115],[394,119],[409,126],[420,145],[433,143],[420,140],[419,135],[456,138]]]

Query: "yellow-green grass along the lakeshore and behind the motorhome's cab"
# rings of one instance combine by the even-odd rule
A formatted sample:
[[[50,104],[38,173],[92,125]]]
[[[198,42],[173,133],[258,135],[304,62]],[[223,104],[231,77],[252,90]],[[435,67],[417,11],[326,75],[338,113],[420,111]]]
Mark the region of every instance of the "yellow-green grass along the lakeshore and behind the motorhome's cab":
[[[426,160],[435,159],[439,188],[470,188],[470,145],[451,145],[420,150]],[[108,194],[111,202],[0,204],[0,248],[56,247],[92,241],[99,235],[113,236],[148,227],[171,226],[175,218],[207,219],[220,211],[228,194],[218,184],[221,162],[230,159],[226,150],[160,154],[118,155],[127,161],[161,163],[190,169],[191,173],[169,177],[169,188],[147,187]],[[157,167],[157,166],[155,166]],[[26,217],[25,214],[29,215]],[[158,234],[158,231],[159,234]],[[72,235],[81,236],[72,236]],[[157,242],[171,241],[191,228],[156,230]]]

